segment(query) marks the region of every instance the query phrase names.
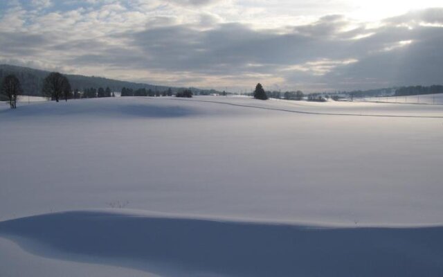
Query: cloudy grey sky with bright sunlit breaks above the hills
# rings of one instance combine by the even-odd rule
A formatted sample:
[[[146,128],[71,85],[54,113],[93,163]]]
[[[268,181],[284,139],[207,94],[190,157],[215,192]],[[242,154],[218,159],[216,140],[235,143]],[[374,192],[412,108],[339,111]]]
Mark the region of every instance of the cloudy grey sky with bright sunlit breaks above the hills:
[[[2,0],[0,63],[170,86],[443,83],[443,1]]]

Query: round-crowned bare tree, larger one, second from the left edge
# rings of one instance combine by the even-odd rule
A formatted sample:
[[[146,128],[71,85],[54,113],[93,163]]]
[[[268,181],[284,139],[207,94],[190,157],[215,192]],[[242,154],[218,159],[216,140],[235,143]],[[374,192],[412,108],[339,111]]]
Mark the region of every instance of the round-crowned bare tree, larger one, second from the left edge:
[[[64,96],[67,101],[71,94],[71,84],[64,75],[53,72],[43,80],[43,95],[58,102],[60,97]]]

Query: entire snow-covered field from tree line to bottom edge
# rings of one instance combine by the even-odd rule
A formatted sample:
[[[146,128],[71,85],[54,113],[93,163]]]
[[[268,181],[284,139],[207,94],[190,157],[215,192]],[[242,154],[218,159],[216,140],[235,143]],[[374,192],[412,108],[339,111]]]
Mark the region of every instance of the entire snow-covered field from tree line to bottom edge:
[[[0,276],[443,272],[440,105],[101,98],[0,127]]]

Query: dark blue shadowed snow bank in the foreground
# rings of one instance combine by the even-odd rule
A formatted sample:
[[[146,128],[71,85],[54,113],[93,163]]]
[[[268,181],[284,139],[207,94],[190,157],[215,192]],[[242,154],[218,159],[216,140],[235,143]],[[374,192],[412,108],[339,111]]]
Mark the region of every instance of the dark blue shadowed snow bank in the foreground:
[[[328,228],[73,211],[0,222],[40,256],[164,276],[441,276],[443,227]]]

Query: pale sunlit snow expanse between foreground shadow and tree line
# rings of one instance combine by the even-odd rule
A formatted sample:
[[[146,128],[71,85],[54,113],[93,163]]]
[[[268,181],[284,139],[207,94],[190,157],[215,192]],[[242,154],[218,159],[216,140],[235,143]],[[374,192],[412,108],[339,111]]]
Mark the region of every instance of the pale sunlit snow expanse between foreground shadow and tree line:
[[[442,221],[442,118],[198,102],[208,99],[299,108],[234,98],[114,98],[4,109],[0,125],[8,131],[0,139],[17,147],[0,146],[0,218],[129,201],[129,208],[260,220]],[[354,109],[317,104],[300,105]],[[395,115],[397,107],[420,116],[417,105],[367,109]],[[422,114],[442,116],[436,107],[425,105]]]

